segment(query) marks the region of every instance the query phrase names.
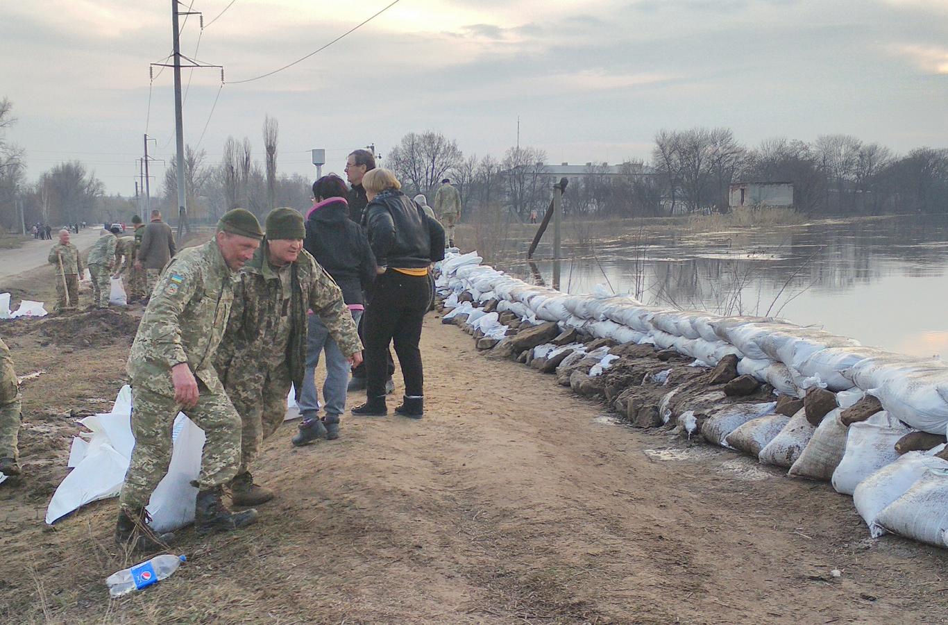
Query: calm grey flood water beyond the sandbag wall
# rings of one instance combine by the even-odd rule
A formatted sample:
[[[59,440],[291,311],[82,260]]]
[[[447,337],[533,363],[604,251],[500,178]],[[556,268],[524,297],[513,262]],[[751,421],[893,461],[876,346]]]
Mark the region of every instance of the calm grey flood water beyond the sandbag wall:
[[[564,248],[563,255],[573,260],[562,262],[559,286],[570,293],[605,285],[644,303],[770,314],[866,345],[948,358],[948,218],[618,233],[590,248]],[[553,263],[538,261],[537,267],[552,285]],[[511,273],[536,282],[526,264]]]

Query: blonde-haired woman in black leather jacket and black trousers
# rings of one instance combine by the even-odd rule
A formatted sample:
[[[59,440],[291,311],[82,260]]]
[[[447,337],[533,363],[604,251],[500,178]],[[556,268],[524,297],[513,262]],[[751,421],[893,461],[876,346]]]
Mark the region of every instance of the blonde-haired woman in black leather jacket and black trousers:
[[[401,192],[390,170],[366,173],[362,186],[369,199],[363,223],[378,268],[363,316],[366,403],[353,414],[388,414],[385,355],[394,343],[405,381],[395,413],[420,419],[425,402],[418,343],[428,311],[428,266],[445,257],[445,230]]]

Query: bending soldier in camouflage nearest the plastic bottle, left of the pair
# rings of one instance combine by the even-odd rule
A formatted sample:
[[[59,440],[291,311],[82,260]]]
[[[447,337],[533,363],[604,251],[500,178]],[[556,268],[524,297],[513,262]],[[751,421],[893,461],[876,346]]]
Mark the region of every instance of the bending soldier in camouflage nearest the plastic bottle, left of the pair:
[[[116,541],[140,550],[162,548],[168,536],[147,528],[145,506],[168,471],[178,411],[207,436],[201,458],[195,521],[199,535],[243,527],[257,511],[232,514],[222,487],[240,465],[241,419],[214,370],[227,327],[237,271],[260,247],[263,232],[243,209],[225,213],[214,238],[177,254],[162,272],[138,325],[128,358],[135,449],[119,498]]]

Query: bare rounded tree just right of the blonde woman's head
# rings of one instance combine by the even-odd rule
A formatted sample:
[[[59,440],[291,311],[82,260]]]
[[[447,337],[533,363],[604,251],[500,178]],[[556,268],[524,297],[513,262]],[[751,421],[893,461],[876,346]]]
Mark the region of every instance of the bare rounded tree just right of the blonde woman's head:
[[[392,171],[409,193],[428,193],[464,155],[441,133],[409,133],[389,152]]]

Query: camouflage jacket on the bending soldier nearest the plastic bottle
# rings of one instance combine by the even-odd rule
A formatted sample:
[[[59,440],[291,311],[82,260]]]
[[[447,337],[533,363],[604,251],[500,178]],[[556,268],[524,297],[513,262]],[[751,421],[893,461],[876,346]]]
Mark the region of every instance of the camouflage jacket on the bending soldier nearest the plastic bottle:
[[[127,371],[133,385],[174,395],[172,367],[187,362],[210,392],[224,393],[213,361],[227,327],[236,276],[214,240],[172,259],[132,343]]]

